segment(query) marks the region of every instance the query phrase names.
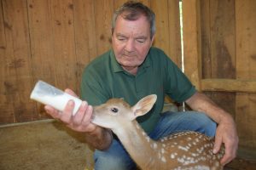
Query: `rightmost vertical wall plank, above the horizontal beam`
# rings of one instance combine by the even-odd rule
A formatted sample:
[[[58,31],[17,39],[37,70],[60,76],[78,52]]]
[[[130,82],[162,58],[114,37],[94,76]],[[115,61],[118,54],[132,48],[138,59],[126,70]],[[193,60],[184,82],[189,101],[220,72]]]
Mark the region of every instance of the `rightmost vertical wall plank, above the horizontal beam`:
[[[256,2],[236,3],[236,78],[256,78]]]

